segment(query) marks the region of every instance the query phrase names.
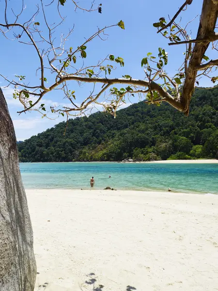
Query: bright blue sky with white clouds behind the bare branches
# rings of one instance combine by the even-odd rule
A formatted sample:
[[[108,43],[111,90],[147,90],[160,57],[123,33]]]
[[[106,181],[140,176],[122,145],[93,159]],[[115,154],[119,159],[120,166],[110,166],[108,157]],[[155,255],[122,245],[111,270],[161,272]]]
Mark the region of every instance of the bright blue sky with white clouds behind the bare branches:
[[[54,0],[57,3],[58,0]],[[36,10],[36,4],[40,1],[33,0],[26,2],[26,9],[21,16],[20,23],[30,18],[32,13]],[[45,0],[44,3],[48,4],[50,0]],[[57,29],[57,39],[61,32],[66,32],[68,29],[74,27],[74,32],[68,38],[67,47],[78,47],[84,38],[88,38],[97,28],[103,28],[104,26],[118,23],[121,19],[125,22],[125,30],[119,27],[113,27],[108,30],[108,39],[101,41],[99,38],[92,41],[87,45],[87,59],[85,64],[95,64],[98,60],[103,59],[108,54],[115,56],[121,56],[124,58],[125,66],[117,66],[117,69],[111,74],[112,77],[121,77],[122,75],[131,75],[134,79],[144,79],[144,71],[140,66],[141,59],[146,56],[147,52],[153,52],[156,54],[158,47],[164,48],[169,53],[169,64],[166,70],[170,76],[176,73],[176,70],[183,62],[183,52],[185,47],[167,45],[168,41],[164,39],[160,34],[156,33],[156,28],[153,27],[153,23],[160,17],[168,15],[173,16],[178,10],[184,0],[171,1],[171,0],[101,0],[102,14],[96,11],[92,13],[83,11],[74,11],[74,4],[71,0],[66,0],[64,7],[61,7],[62,16],[66,16],[66,19],[61,27]],[[99,2],[99,3],[100,3]],[[20,9],[20,0],[11,0],[11,7],[14,11]],[[90,0],[80,0],[79,5],[81,7],[89,7]],[[99,4],[95,2],[96,5]],[[0,19],[4,21],[4,1],[0,1]],[[187,32],[192,33],[192,38],[195,38],[199,25],[199,16],[202,8],[202,0],[193,1],[188,6],[187,11],[182,13],[182,26],[186,25],[188,21],[196,19],[189,25]],[[46,8],[47,20],[51,24],[53,22],[60,21],[56,6],[48,6]],[[13,21],[12,13],[8,14],[8,22]],[[37,16],[35,21],[40,22],[40,28],[46,32],[46,28],[43,25],[42,15]],[[8,77],[9,79],[15,78],[15,75],[25,75],[26,80],[30,84],[39,83],[39,74],[36,76],[35,72],[39,66],[39,60],[35,51],[31,46],[19,44],[17,40],[10,41],[0,35],[1,40],[1,69],[0,74]],[[40,46],[40,44],[39,44]],[[210,58],[214,53],[208,52]],[[52,81],[52,76],[47,73],[46,78],[48,84]],[[7,83],[1,78],[0,86],[3,88]],[[201,80],[200,85],[211,86],[211,82],[208,80]],[[82,85],[79,87],[76,83],[70,84],[70,88],[76,91],[77,102],[81,102],[83,98],[86,98],[90,92],[90,85]],[[37,112],[22,113],[18,115],[17,110],[22,109],[18,100],[13,99],[13,87],[9,86],[3,89],[4,95],[8,102],[9,111],[11,113],[15,129],[17,140],[25,140],[34,134],[44,131],[47,128],[52,127],[65,118],[59,117],[55,120],[49,120],[41,117]],[[138,102],[139,99],[131,100],[132,102]],[[61,91],[54,91],[45,96],[43,103],[48,107],[56,104],[66,104],[66,99],[63,99]],[[127,101],[127,105],[130,103]]]

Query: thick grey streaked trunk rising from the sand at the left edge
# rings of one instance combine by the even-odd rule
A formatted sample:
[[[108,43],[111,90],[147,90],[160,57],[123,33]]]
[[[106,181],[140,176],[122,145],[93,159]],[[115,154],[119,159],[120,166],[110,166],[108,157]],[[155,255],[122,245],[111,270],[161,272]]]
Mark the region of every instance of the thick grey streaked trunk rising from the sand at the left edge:
[[[0,291],[33,291],[36,263],[16,136],[0,89]]]

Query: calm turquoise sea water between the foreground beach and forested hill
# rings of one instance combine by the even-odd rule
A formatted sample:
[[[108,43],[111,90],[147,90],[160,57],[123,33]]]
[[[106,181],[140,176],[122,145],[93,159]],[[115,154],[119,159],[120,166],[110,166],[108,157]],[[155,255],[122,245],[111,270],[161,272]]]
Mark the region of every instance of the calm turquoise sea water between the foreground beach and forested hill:
[[[218,164],[20,163],[26,189],[159,190],[218,194]],[[111,176],[111,178],[109,178]]]

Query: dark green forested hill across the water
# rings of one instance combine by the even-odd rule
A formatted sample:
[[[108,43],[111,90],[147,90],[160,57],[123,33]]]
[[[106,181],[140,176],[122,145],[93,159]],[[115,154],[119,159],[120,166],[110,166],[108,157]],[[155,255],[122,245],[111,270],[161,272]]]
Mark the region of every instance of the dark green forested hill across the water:
[[[188,117],[144,102],[71,119],[19,143],[21,162],[218,158],[218,89],[196,89]]]

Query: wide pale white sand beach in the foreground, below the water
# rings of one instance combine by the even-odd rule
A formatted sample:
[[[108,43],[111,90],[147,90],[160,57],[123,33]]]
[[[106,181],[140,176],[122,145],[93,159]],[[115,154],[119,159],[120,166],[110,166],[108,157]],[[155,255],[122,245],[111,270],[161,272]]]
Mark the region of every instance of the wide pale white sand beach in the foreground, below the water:
[[[35,291],[218,290],[218,196],[26,192]]]

